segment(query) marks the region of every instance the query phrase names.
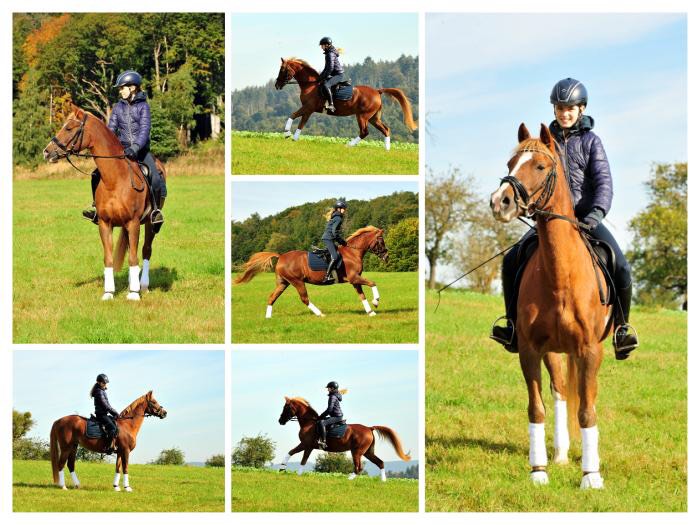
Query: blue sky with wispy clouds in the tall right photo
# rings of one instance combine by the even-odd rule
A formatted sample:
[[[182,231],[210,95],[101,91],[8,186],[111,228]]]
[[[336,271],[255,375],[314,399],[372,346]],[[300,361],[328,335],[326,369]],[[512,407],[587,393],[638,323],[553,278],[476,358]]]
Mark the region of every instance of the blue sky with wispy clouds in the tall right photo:
[[[426,164],[461,168],[486,197],[520,122],[549,124],[552,86],[576,78],[610,161],[607,224],[624,248],[652,162],[687,160],[686,41],[675,14],[428,14]]]

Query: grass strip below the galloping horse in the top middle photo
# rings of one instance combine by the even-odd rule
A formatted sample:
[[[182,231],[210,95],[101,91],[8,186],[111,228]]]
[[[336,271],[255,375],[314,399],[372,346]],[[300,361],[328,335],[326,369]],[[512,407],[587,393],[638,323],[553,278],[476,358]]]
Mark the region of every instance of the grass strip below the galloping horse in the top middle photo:
[[[304,136],[298,142],[282,133],[234,131],[231,136],[231,173],[234,175],[417,175],[418,144],[396,142],[391,151],[384,141],[353,137]]]

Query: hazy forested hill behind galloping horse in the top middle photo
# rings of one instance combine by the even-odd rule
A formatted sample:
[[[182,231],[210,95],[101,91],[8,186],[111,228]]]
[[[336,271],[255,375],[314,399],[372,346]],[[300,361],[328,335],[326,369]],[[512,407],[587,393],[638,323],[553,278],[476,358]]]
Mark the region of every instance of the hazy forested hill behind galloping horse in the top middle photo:
[[[413,106],[413,118],[418,120],[418,57],[401,55],[397,60],[379,62],[367,57],[361,64],[346,65],[345,71],[355,85],[403,90]],[[232,129],[281,131],[287,117],[301,107],[298,86],[286,86],[278,91],[274,78],[277,72],[270,73],[270,80],[265,85],[247,87],[231,94]],[[388,96],[382,98],[382,120],[391,128],[392,137],[402,142],[418,142],[418,132],[410,132],[404,126],[399,105]],[[304,134],[351,138],[357,135],[357,121],[352,117],[338,118],[317,113],[304,128]],[[370,138],[378,137],[381,137],[379,131],[370,126]]]

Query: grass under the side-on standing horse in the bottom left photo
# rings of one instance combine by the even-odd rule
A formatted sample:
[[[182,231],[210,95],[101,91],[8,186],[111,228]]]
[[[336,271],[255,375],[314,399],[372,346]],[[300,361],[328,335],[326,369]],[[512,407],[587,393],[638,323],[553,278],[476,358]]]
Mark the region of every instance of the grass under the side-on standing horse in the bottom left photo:
[[[223,512],[224,469],[188,466],[129,465],[133,492],[114,492],[114,465],[77,462],[80,489],[53,484],[51,463],[19,461],[13,465],[15,512]],[[120,482],[121,484],[121,482]]]

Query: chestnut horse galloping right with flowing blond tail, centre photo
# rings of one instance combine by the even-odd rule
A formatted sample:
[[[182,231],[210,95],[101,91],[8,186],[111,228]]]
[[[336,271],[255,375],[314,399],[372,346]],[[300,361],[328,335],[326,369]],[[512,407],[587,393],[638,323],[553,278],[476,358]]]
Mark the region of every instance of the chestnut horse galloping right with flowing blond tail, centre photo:
[[[338,252],[343,258],[343,264],[336,268],[338,274],[338,283],[350,283],[355,287],[357,294],[360,296],[362,305],[368,315],[376,315],[369,305],[365,293],[362,291],[362,286],[372,287],[372,304],[379,306],[379,290],[374,281],[362,277],[362,258],[367,251],[374,253],[383,261],[387,261],[389,253],[384,244],[384,230],[375,228],[374,226],[366,226],[360,228],[355,233],[346,239],[346,246],[339,246]],[[275,304],[277,298],[282,295],[290,284],[297,289],[301,302],[309,307],[314,314],[323,317],[314,303],[309,301],[309,294],[306,292],[306,284],[324,284],[326,277],[325,270],[312,270],[309,268],[307,252],[303,250],[294,250],[283,254],[273,252],[258,252],[254,253],[243,266],[243,274],[238,276],[233,282],[234,284],[247,283],[257,274],[263,271],[269,271],[272,268],[272,259],[279,258],[277,266],[275,266],[275,274],[277,275],[277,287],[267,299],[267,319],[272,317],[272,305]]]

